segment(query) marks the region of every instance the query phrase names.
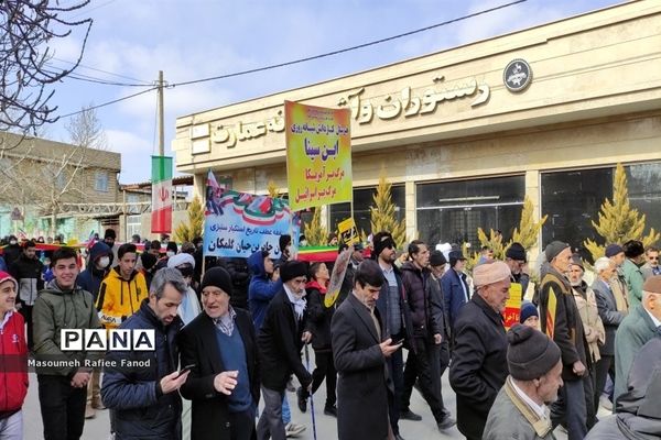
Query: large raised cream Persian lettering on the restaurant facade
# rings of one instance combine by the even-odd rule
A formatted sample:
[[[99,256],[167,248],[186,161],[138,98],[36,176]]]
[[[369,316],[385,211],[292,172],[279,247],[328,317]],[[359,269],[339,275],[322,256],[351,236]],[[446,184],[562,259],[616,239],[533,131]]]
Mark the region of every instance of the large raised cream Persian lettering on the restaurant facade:
[[[475,77],[462,81],[445,82],[444,76],[432,78],[426,88],[413,89],[410,86],[386,96],[375,96],[361,87],[340,96],[335,105],[351,110],[351,118],[359,124],[369,124],[375,119],[392,121],[399,118],[413,118],[433,114],[443,103],[473,98],[470,107],[476,108],[489,100],[490,87]],[[212,144],[234,148],[238,142],[266,136],[269,133],[285,131],[284,109],[261,121],[242,121],[224,124],[205,122],[189,129],[191,152],[209,153]],[[210,142],[209,142],[210,139]]]

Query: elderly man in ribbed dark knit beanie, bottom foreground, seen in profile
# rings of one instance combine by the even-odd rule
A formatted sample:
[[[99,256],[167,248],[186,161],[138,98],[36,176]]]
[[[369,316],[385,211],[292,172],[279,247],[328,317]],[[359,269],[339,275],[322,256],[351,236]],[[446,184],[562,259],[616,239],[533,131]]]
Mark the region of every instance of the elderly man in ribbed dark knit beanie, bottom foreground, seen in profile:
[[[544,333],[525,326],[508,331],[509,376],[485,427],[485,440],[554,439],[546,405],[562,386],[560,349]]]

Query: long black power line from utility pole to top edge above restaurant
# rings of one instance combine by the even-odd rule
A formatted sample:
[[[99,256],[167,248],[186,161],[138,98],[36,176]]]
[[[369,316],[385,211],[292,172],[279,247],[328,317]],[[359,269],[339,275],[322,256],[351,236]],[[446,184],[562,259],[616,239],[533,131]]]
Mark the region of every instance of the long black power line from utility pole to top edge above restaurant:
[[[393,36],[388,36],[386,38],[376,40],[376,41],[372,41],[372,42],[369,42],[369,43],[364,43],[364,44],[359,44],[359,45],[351,46],[351,47],[346,47],[346,48],[340,48],[340,50],[333,51],[333,52],[327,52],[327,53],[321,54],[321,55],[307,56],[305,58],[299,58],[299,59],[294,59],[294,61],[291,61],[291,62],[272,64],[270,66],[257,67],[257,68],[253,68],[253,69],[236,72],[234,74],[218,75],[218,76],[213,76],[213,77],[208,77],[208,78],[194,79],[194,80],[183,81],[183,82],[174,82],[174,84],[171,84],[170,87],[188,86],[191,84],[207,82],[207,81],[213,81],[213,80],[216,80],[216,79],[226,79],[226,78],[231,78],[231,77],[236,77],[236,76],[254,74],[254,73],[258,73],[258,72],[271,70],[271,69],[279,68],[279,67],[292,66],[294,64],[301,64],[301,63],[310,62],[310,61],[313,61],[313,59],[326,58],[328,56],[344,54],[346,52],[351,52],[351,51],[356,51],[356,50],[359,50],[359,48],[365,48],[365,47],[373,46],[373,45],[386,43],[386,42],[389,42],[389,41],[392,41],[392,40],[398,40],[398,38],[402,38],[404,36],[418,34],[418,33],[425,32],[425,31],[430,31],[430,30],[435,29],[435,28],[441,28],[441,26],[444,26],[444,25],[447,25],[447,24],[452,24],[452,23],[456,23],[456,22],[459,22],[459,21],[468,20],[468,19],[472,19],[474,16],[478,16],[478,15],[481,15],[481,14],[485,14],[485,13],[494,12],[494,11],[497,11],[499,9],[508,8],[508,7],[518,4],[518,3],[523,3],[525,1],[528,1],[528,0],[512,1],[512,2],[509,2],[509,3],[506,3],[506,4],[501,4],[501,6],[498,6],[498,7],[495,7],[495,8],[485,9],[483,11],[475,12],[475,13],[472,13],[472,14],[468,14],[468,15],[463,15],[463,16],[459,16],[459,18],[456,18],[456,19],[447,20],[447,21],[444,21],[442,23],[432,24],[431,26],[416,29],[414,31],[404,32],[402,34],[398,34],[398,35],[393,35]]]

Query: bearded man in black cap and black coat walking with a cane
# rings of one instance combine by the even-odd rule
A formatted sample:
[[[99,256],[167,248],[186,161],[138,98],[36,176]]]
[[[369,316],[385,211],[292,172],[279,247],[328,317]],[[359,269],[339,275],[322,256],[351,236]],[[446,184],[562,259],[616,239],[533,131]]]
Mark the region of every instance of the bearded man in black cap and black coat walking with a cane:
[[[312,375],[301,362],[303,342],[312,338],[305,329],[305,282],[307,267],[299,261],[288,261],[280,266],[282,288],[267,308],[264,321],[257,337],[260,376],[264,410],[257,426],[257,438],[285,439],[282,421],[282,399],[290,375],[299,378],[304,391],[312,385]]]

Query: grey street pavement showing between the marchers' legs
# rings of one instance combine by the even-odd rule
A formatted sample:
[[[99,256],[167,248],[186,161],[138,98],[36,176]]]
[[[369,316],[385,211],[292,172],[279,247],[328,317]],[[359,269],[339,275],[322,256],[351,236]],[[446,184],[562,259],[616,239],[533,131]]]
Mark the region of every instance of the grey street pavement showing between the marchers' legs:
[[[313,362],[311,360],[311,362]],[[297,439],[314,440],[313,424],[310,407],[307,413],[303,414],[296,406],[295,393],[288,393],[290,407],[292,409],[292,421],[295,424],[305,425],[307,429]],[[316,439],[318,440],[335,440],[337,439],[337,425],[334,417],[324,415],[324,403],[326,399],[326,386],[322,384],[317,393],[314,395]],[[455,394],[447,382],[447,371],[443,376],[443,399],[447,409],[451,410],[453,417],[456,418]],[[418,391],[413,391],[411,396],[411,409],[422,416],[422,421],[400,421],[400,433],[407,440],[421,439],[463,439],[456,427],[440,432],[434,422],[434,417],[430,408]],[[600,408],[599,417],[608,413]],[[25,439],[43,438],[42,418],[39,407],[39,395],[36,386],[36,375],[30,374],[30,388],[25,404],[23,405],[23,425]],[[106,440],[110,435],[110,421],[108,410],[97,410],[97,416],[94,419],[85,420],[85,430],[83,440]],[[555,430],[555,437],[559,440],[566,439],[566,435],[559,429]]]

